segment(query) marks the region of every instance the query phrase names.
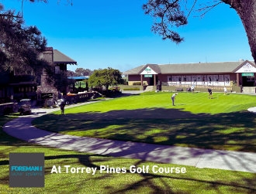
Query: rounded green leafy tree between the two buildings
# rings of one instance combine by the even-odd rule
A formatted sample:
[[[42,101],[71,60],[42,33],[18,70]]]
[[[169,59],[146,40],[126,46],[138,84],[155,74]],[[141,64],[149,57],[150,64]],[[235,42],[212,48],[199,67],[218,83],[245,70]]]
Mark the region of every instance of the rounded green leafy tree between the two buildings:
[[[119,70],[115,70],[110,67],[108,69],[95,70],[88,79],[90,87],[105,86],[106,90],[108,90],[111,85],[114,86],[122,83],[122,73]]]

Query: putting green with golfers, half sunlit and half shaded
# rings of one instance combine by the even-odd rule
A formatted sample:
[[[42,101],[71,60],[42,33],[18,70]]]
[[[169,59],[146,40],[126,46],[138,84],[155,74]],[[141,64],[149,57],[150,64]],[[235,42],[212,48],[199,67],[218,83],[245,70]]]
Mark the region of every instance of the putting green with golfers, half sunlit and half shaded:
[[[144,93],[36,118],[38,128],[78,136],[256,152],[255,96]]]

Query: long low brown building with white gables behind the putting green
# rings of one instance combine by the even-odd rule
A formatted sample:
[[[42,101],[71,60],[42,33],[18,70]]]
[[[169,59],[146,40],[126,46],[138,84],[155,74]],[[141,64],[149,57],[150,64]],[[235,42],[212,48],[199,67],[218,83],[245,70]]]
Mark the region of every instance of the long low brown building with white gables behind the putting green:
[[[123,73],[128,77],[128,85],[140,85],[147,90],[151,87],[169,90],[195,90],[212,88],[230,91],[255,93],[256,66],[253,61],[220,63],[146,64]],[[164,90],[165,90],[164,89]]]

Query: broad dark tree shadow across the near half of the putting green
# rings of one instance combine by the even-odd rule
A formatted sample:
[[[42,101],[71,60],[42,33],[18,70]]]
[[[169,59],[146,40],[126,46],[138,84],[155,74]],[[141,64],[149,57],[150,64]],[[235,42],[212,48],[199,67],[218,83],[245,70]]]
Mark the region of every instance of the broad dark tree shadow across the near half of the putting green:
[[[47,114],[35,123],[48,131],[94,138],[256,152],[256,119],[247,111],[211,115],[155,108]]]

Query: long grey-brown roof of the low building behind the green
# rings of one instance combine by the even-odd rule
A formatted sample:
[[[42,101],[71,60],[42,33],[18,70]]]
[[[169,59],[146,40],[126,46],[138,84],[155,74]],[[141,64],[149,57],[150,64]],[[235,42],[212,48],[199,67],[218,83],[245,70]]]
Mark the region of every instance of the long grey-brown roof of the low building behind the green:
[[[138,66],[132,70],[123,72],[123,74],[134,75],[140,74],[147,66],[150,66],[156,73],[161,74],[181,74],[181,73],[233,73],[240,66],[240,62],[219,62],[219,63],[181,63],[181,64],[165,64],[165,65],[152,65],[147,64]],[[254,64],[254,62],[250,62]]]

